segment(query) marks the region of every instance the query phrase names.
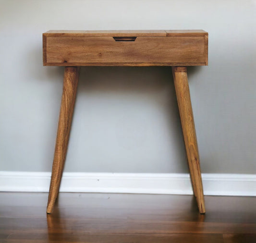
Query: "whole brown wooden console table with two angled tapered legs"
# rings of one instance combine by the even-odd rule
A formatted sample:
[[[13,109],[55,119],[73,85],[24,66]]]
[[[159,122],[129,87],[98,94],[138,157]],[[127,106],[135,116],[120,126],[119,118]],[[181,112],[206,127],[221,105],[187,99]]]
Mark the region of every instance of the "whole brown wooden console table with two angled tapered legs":
[[[80,66],[172,66],[194,194],[205,203],[186,66],[207,65],[203,30],[48,31],[43,33],[44,66],[65,66],[47,213],[58,196],[71,128]]]

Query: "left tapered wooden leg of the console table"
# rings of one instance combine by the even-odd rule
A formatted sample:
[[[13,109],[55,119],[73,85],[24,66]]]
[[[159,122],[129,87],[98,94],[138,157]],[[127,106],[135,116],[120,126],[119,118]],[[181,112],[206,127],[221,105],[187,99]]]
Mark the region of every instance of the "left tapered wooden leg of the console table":
[[[59,193],[62,170],[66,158],[69,133],[73,117],[78,77],[79,67],[65,67],[61,98],[61,111],[48,196],[48,214],[53,212],[54,203]]]

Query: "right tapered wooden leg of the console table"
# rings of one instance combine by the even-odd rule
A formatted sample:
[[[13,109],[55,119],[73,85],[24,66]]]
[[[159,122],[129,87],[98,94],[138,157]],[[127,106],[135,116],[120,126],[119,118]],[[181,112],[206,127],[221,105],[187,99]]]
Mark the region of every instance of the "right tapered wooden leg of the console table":
[[[174,85],[180,110],[183,136],[197,206],[201,214],[205,213],[204,192],[200,171],[199,154],[195,135],[195,124],[190,100],[187,68],[172,67]]]

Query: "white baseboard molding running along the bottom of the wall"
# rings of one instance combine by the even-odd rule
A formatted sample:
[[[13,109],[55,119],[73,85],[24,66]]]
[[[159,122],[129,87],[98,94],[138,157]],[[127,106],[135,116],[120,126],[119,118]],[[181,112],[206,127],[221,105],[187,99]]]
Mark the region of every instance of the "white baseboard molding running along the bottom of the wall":
[[[256,196],[256,175],[202,174],[205,195]],[[50,172],[0,171],[2,192],[48,192]],[[64,172],[61,192],[193,194],[189,174]]]

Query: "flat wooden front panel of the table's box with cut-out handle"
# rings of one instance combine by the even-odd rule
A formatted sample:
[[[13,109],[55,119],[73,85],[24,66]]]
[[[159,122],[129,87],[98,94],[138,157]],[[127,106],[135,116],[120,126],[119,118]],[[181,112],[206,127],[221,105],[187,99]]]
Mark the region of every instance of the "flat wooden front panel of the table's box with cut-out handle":
[[[46,66],[207,65],[207,36],[44,36]]]

